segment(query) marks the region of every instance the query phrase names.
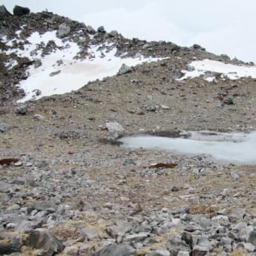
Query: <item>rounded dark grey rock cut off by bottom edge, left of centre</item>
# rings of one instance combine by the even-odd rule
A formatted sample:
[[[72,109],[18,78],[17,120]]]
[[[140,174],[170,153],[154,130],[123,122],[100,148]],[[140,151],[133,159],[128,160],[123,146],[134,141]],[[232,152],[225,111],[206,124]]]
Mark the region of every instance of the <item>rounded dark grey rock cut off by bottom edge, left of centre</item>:
[[[105,246],[102,250],[97,251],[94,256],[136,256],[136,250],[130,245],[117,245],[113,243]]]

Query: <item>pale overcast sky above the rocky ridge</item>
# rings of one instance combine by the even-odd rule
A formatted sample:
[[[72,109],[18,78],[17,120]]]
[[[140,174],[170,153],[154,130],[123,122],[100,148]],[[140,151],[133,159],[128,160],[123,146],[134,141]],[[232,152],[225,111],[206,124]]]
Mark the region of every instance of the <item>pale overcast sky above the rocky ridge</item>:
[[[95,29],[116,29],[127,38],[200,44],[213,53],[256,63],[255,0],[2,0],[32,12],[53,13],[83,21]]]

